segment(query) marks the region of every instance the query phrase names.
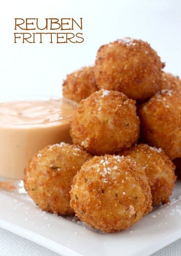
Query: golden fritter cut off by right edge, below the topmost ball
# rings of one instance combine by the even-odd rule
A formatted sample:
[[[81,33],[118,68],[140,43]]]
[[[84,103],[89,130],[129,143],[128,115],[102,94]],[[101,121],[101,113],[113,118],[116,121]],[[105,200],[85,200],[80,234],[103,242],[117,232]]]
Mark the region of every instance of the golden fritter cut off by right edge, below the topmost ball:
[[[164,149],[170,159],[181,157],[181,92],[161,90],[139,108],[141,137]]]

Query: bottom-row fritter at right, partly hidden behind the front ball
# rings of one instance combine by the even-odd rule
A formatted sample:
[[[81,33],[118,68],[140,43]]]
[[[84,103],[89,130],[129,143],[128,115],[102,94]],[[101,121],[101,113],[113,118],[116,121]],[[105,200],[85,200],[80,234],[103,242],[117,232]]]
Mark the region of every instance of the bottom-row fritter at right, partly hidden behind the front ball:
[[[145,170],[152,193],[152,205],[169,202],[176,180],[172,161],[161,148],[147,144],[135,145],[123,152],[129,155]]]

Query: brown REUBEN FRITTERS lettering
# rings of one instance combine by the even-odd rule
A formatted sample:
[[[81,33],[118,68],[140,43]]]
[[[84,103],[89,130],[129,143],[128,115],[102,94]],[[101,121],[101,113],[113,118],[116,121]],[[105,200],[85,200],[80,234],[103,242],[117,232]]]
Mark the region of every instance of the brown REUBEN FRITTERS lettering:
[[[14,43],[83,43],[82,18],[14,18]]]

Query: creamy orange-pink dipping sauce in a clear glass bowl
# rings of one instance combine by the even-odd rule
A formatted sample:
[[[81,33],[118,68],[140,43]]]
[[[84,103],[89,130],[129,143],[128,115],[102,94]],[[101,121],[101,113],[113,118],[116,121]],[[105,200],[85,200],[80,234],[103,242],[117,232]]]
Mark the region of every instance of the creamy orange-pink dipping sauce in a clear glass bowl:
[[[0,177],[22,179],[28,161],[40,149],[71,143],[76,106],[67,99],[0,102]]]

